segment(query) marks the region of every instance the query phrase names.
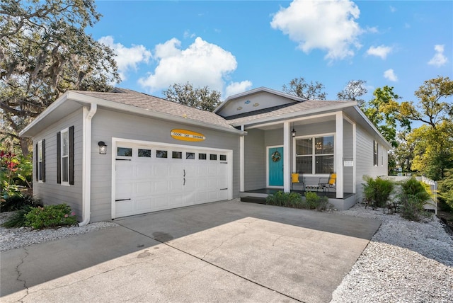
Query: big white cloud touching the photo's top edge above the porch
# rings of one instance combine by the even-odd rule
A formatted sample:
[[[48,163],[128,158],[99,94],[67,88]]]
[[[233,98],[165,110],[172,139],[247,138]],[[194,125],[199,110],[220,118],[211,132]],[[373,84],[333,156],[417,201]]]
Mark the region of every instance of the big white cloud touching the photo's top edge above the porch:
[[[355,22],[359,15],[350,0],[294,0],[275,13],[270,25],[289,35],[306,53],[319,48],[327,51],[326,59],[344,59],[355,54],[352,46],[361,46],[357,36],[363,30]]]

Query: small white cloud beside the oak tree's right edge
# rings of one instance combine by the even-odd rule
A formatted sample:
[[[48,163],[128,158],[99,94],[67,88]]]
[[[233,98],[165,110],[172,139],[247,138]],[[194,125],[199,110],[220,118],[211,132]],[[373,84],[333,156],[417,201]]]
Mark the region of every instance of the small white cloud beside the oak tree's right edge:
[[[115,61],[118,65],[118,74],[122,80],[127,79],[127,72],[130,69],[137,70],[139,63],[147,63],[151,58],[151,52],[143,45],[132,45],[125,47],[121,43],[115,43],[112,36],[105,36],[98,40],[103,45],[107,45],[115,52]]]

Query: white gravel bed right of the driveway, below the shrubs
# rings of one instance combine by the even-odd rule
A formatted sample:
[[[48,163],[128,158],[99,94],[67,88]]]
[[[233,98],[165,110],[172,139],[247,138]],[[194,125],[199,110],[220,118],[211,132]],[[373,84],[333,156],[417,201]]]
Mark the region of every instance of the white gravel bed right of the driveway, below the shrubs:
[[[382,225],[331,302],[453,302],[453,238],[440,219],[411,222],[363,205],[338,213]]]

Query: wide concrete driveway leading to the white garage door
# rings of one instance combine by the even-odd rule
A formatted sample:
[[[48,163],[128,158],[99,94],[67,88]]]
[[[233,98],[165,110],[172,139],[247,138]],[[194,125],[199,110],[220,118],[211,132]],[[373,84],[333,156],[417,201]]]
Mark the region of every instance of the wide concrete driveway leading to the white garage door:
[[[226,201],[1,253],[1,302],[329,302],[381,222]]]

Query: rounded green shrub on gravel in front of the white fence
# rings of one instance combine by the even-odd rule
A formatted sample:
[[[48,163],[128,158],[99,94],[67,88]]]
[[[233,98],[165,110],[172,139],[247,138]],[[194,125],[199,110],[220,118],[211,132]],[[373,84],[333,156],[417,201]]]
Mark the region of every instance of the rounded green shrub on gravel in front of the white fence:
[[[399,211],[401,217],[413,221],[419,221],[422,217],[428,217],[430,212],[425,211],[425,203],[431,195],[427,192],[425,185],[410,178],[401,183],[401,195],[399,197]]]

